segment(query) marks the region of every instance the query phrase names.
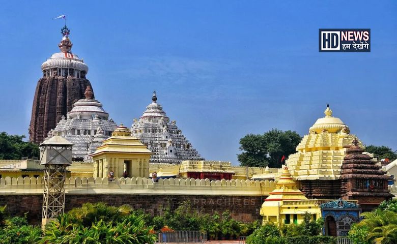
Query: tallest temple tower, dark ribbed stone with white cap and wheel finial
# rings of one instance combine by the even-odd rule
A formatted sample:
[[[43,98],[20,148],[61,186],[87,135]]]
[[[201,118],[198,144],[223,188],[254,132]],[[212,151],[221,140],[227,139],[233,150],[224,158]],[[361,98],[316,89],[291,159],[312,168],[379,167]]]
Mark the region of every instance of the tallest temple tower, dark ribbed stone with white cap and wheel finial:
[[[58,45],[61,52],[52,54],[41,65],[43,77],[36,86],[29,127],[30,141],[35,143],[44,141],[62,116],[72,110],[73,103],[84,98],[87,86],[91,86],[86,79],[88,66],[71,52],[73,44],[66,25],[61,33],[63,38]]]

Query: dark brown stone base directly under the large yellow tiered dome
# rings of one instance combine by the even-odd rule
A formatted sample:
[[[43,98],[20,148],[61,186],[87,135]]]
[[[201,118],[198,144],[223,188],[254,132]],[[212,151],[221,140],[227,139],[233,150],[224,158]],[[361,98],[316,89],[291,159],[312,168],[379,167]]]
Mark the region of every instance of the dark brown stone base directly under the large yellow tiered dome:
[[[299,180],[300,190],[309,199],[339,199],[341,180]]]

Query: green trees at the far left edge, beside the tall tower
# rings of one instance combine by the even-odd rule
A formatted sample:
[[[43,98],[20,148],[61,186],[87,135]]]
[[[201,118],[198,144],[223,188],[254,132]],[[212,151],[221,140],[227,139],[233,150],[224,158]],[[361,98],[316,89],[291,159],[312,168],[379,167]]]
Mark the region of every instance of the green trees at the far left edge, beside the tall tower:
[[[0,133],[0,159],[38,158],[40,156],[39,146],[32,142],[23,141],[24,138],[24,135]]]

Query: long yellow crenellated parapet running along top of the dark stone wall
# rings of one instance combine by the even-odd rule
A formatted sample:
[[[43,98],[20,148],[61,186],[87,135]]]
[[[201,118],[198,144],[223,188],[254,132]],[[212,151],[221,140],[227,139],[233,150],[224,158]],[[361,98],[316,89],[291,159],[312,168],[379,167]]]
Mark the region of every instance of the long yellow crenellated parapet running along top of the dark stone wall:
[[[70,177],[65,180],[66,194],[141,194],[141,195],[227,195],[268,196],[275,189],[274,181],[117,178],[109,182],[100,177]],[[0,195],[43,193],[41,177],[5,177],[0,179]]]

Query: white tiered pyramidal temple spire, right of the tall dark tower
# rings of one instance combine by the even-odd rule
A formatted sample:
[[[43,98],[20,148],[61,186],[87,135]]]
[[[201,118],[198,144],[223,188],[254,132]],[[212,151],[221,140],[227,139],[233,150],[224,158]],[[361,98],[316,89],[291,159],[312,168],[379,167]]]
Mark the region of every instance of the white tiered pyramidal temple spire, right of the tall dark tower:
[[[139,120],[134,119],[131,132],[154,153],[151,163],[179,164],[183,160],[204,160],[178,129],[176,121],[169,121],[157,103],[156,92]]]

